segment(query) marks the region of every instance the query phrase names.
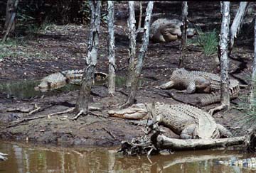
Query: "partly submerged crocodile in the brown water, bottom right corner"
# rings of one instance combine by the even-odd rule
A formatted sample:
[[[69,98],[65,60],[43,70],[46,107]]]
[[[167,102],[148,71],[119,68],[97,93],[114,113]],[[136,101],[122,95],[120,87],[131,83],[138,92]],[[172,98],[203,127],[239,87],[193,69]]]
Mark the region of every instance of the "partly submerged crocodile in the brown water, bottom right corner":
[[[237,160],[234,158],[231,160],[218,161],[217,164],[256,169],[256,157],[250,157],[250,158],[241,159],[241,160]]]

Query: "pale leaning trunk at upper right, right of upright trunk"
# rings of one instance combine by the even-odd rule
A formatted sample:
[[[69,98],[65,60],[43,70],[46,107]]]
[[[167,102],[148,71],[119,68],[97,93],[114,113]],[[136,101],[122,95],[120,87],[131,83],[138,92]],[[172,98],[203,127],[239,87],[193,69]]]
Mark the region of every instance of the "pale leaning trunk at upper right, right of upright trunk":
[[[240,2],[238,12],[236,13],[232,26],[230,28],[230,43],[228,46],[228,50],[230,51],[229,53],[231,53],[231,50],[233,49],[234,39],[237,37],[237,33],[239,33],[240,26],[242,26],[241,23],[247,11],[247,5],[247,1]]]

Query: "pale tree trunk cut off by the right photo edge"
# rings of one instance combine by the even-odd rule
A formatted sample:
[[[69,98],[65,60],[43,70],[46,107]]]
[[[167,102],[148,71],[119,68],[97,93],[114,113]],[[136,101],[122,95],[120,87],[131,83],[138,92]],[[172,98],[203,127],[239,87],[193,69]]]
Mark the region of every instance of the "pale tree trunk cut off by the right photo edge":
[[[255,17],[255,57],[253,59],[253,64],[252,64],[252,81],[250,84],[250,109],[254,111],[255,109],[255,86],[256,86],[256,17]]]

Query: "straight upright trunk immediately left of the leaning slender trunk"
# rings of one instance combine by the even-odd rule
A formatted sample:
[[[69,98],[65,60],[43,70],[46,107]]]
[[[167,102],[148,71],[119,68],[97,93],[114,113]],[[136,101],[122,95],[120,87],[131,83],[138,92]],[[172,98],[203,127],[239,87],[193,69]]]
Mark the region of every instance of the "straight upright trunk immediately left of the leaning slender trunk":
[[[135,56],[136,56],[136,20],[134,12],[134,1],[129,1],[129,60],[126,86],[130,87],[132,84],[132,77],[135,73]]]

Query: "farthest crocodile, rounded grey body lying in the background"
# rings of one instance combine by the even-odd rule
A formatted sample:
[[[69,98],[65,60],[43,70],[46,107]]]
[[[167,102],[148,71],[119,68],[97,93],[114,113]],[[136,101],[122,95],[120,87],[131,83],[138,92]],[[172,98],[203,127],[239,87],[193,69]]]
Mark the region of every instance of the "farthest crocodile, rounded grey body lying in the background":
[[[151,24],[150,39],[156,43],[176,41],[181,37],[181,21],[178,19],[159,18]],[[196,29],[186,30],[188,38],[196,35]]]

